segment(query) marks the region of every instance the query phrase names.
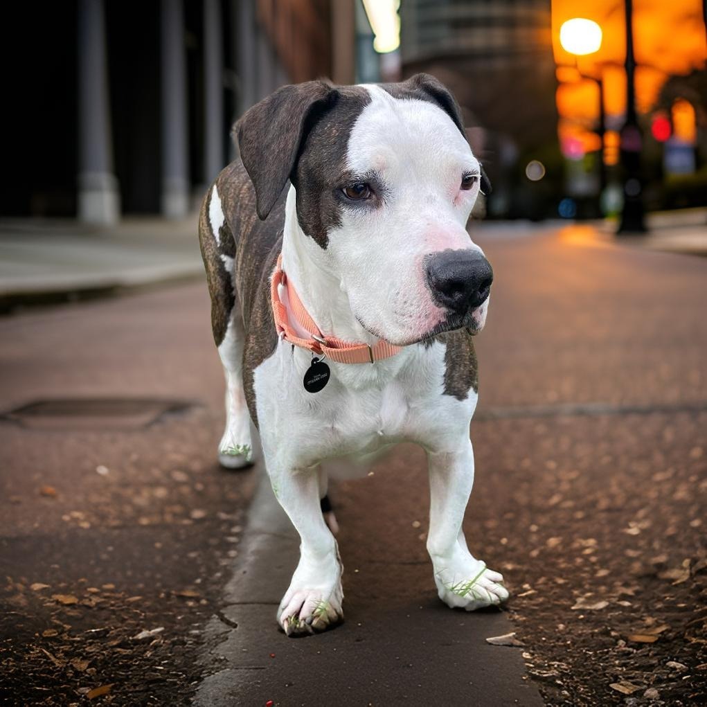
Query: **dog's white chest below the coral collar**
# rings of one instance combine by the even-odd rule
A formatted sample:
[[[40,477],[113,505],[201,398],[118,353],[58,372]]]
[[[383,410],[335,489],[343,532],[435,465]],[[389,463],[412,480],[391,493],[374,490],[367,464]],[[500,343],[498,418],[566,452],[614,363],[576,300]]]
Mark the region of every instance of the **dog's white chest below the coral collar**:
[[[279,346],[256,370],[256,396],[262,438],[279,456],[296,457],[297,465],[369,455],[404,440],[433,445],[468,425],[476,395],[464,401],[443,395],[443,344],[419,346],[370,368],[332,365],[329,382],[314,394],[302,383],[306,356],[288,349]]]

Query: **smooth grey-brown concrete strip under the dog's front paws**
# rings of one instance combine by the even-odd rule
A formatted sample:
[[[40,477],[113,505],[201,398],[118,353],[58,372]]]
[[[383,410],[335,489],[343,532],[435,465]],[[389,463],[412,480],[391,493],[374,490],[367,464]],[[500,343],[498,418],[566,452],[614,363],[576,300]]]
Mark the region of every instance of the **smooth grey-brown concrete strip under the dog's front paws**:
[[[347,490],[349,503],[339,506],[346,621],[305,639],[276,629],[299,537],[262,472],[240,561],[226,585],[223,609],[206,631],[216,645],[202,660],[220,670],[201,683],[195,705],[271,699],[311,706],[542,706],[520,649],[486,643],[515,630],[506,613],[450,611],[436,597],[431,563],[415,530],[420,522],[404,520],[425,520],[421,484],[404,483],[411,459],[416,471],[425,462],[421,450],[407,445],[406,451],[377,464],[380,478]],[[338,484],[334,488],[341,493]],[[395,509],[372,519],[371,511],[386,498],[395,498]],[[411,532],[403,532],[404,526]]]

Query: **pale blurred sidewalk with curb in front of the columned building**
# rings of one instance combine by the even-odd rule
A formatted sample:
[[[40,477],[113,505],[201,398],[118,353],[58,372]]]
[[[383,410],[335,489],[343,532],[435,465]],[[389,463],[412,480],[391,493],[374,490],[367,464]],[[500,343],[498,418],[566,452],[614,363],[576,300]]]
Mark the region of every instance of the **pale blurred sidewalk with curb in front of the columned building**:
[[[0,311],[202,276],[197,214],[124,218],[113,228],[66,221],[0,222]]]

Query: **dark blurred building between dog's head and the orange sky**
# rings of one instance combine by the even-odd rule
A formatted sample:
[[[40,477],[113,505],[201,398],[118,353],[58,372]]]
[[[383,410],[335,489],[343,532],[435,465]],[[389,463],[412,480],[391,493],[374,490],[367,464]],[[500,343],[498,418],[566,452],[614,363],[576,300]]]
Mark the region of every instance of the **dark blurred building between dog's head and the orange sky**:
[[[428,71],[455,93],[491,213],[544,216],[561,171],[550,0],[403,0],[400,16],[403,76]],[[531,160],[542,182],[525,178]]]

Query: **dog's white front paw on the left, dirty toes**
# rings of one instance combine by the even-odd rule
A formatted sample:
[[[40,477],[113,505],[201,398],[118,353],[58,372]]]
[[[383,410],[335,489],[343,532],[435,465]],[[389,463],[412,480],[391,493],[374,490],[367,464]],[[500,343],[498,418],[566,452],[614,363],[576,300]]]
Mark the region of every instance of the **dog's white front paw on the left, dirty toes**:
[[[325,631],[344,620],[341,573],[337,572],[337,575],[332,585],[326,588],[307,588],[298,585],[293,578],[277,613],[277,621],[288,636]]]

